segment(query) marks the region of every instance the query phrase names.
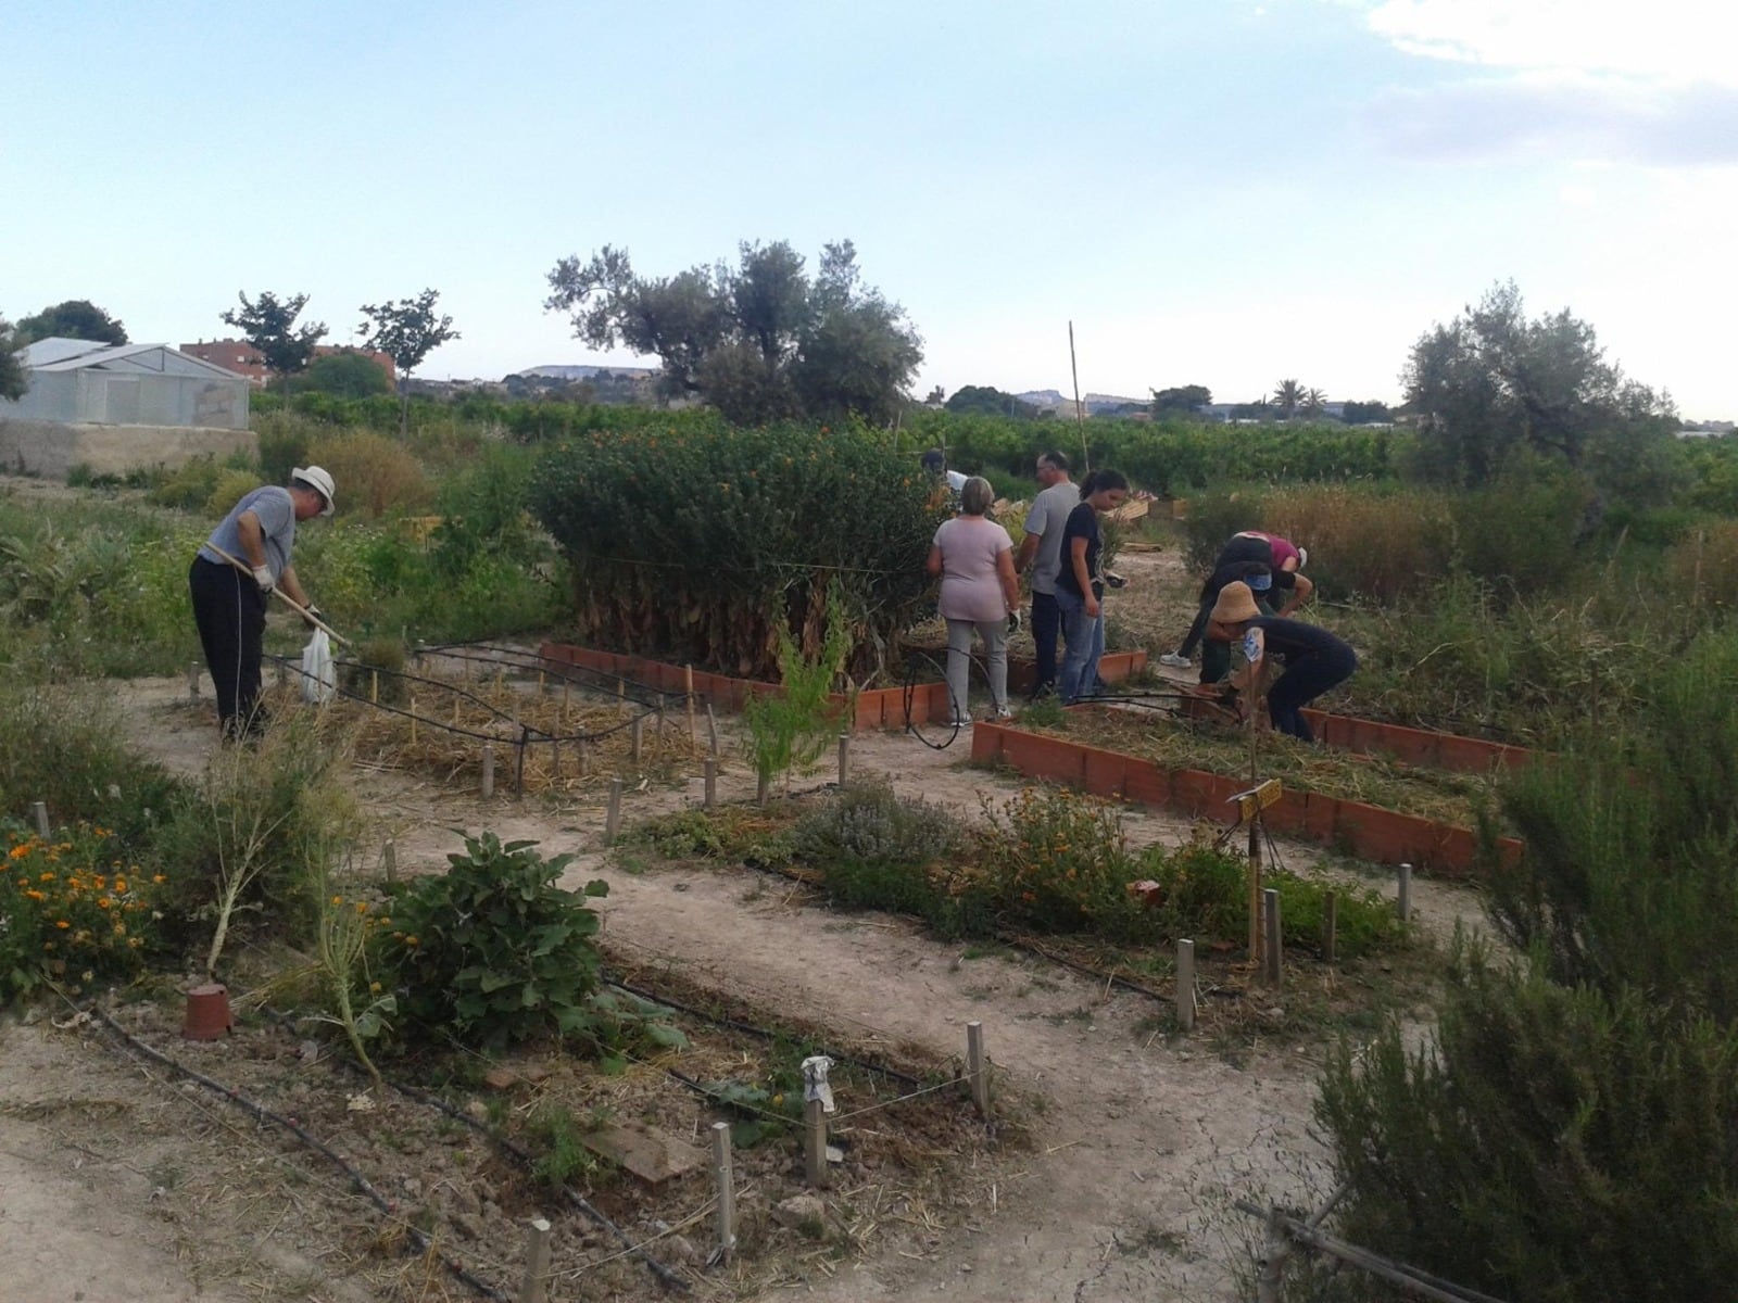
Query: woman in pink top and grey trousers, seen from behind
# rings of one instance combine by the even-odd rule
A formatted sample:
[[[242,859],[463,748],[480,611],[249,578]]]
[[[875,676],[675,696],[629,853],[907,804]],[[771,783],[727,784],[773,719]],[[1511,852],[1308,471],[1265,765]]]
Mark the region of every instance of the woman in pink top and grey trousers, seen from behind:
[[[954,728],[972,723],[966,683],[972,669],[972,631],[984,639],[989,695],[996,719],[1008,709],[1008,624],[1020,608],[1020,580],[1013,575],[1013,539],[984,513],[996,492],[980,474],[959,490],[959,514],[944,521],[930,546],[928,570],[942,577],[942,618],[947,620],[947,698]]]

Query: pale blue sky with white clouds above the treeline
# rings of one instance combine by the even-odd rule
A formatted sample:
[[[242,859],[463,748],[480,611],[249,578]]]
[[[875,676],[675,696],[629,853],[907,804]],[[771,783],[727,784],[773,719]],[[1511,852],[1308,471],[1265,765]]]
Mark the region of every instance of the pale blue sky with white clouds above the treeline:
[[[1738,61],[1708,0],[5,0],[0,314],[440,290],[429,379],[600,356],[565,255],[852,240],[966,384],[1401,398],[1514,280],[1738,417]],[[306,320],[304,318],[304,320]]]

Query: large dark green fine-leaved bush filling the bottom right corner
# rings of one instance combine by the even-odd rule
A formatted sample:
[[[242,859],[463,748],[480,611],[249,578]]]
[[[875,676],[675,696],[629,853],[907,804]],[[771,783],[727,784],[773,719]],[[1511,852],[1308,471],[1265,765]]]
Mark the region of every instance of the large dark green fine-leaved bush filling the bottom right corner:
[[[1491,917],[1432,1044],[1345,1046],[1317,1115],[1345,1235],[1505,1298],[1724,1298],[1738,1270],[1738,639],[1622,735],[1510,775]]]

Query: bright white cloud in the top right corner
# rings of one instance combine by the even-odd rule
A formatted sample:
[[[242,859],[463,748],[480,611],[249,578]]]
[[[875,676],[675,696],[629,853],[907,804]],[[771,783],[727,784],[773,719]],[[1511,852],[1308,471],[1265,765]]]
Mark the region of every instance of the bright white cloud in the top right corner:
[[[1378,0],[1366,21],[1397,49],[1432,59],[1738,85],[1731,17],[1710,0]]]

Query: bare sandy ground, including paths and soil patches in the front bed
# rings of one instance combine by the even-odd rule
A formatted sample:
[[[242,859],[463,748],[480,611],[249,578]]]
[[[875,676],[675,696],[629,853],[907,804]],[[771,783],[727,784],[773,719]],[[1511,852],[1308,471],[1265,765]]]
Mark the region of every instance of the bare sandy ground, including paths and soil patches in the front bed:
[[[1130,598],[1170,554],[1149,563],[1152,556],[1123,558]],[[1178,580],[1180,570],[1171,587]],[[1130,598],[1123,601],[1131,624],[1171,622],[1180,632],[1180,617],[1166,603]],[[216,730],[209,705],[188,705],[182,681],[132,683],[118,693],[143,749],[181,773],[203,768]],[[728,733],[726,723],[726,757],[733,754]],[[949,804],[961,818],[978,817],[982,794],[999,799],[1017,789],[966,768],[965,740],[932,751],[911,737],[859,735],[852,747],[857,773],[883,773],[897,790]],[[965,1023],[982,1022],[998,1112],[1018,1124],[1013,1131],[996,1138],[970,1121],[956,1126],[963,1105],[945,1095],[945,1108],[937,1103],[933,1117],[900,1133],[904,1141],[890,1141],[879,1167],[862,1166],[876,1141],[859,1138],[848,1159],[857,1166],[846,1166],[829,1192],[819,1240],[768,1221],[773,1197],[794,1188],[787,1173],[751,1171],[758,1194],[747,1209],[763,1228],[765,1265],[707,1272],[687,1253],[673,1253],[702,1298],[1234,1298],[1248,1232],[1231,1200],[1302,1202],[1321,1169],[1309,1119],[1326,1034],[1300,1037],[1286,1006],[1319,995],[1323,983],[1380,982],[1378,973],[1300,976],[1295,990],[1246,1013],[1236,1035],[1215,1030],[1213,1001],[1194,1035],[1163,1035],[1166,1011],[1147,997],[1017,952],[949,945],[905,919],[834,912],[782,879],[657,863],[624,872],[601,846],[601,785],[485,803],[433,778],[372,768],[356,773],[355,790],[379,839],[395,839],[401,872],[443,870],[468,829],[535,839],[549,855],[577,853],[568,884],[594,876],[610,881],[600,902],[603,942],[645,985],[718,992],[765,1022],[829,1029],[866,1055],[919,1067],[961,1058]],[[753,775],[726,763],[720,797],[749,801],[753,794]],[[687,799],[685,780],[648,784],[629,792],[626,817],[676,810]],[[1180,841],[1191,830],[1154,811],[1130,811],[1128,829],[1137,843]],[[1300,865],[1316,860],[1304,846],[1283,843],[1281,853]],[[1382,877],[1361,881],[1383,886]],[[1422,929],[1436,936],[1477,916],[1470,893],[1434,883],[1415,883],[1413,902]],[[280,1079],[289,1091],[313,1070],[299,1041],[278,1029],[249,1027],[217,1046],[191,1046],[174,1037],[160,1006],[141,1009],[130,1015],[141,1020],[141,1035],[149,1032],[177,1058],[200,1058],[212,1075],[252,1063],[255,1086]],[[396,1279],[379,1279],[377,1247],[393,1234],[391,1223],[330,1167],[290,1154],[243,1114],[104,1044],[89,1025],[63,1029],[47,1016],[0,1027],[3,1296],[222,1303],[464,1296],[438,1267],[414,1256]],[[709,1053],[758,1053],[728,1041],[709,1046]],[[358,1086],[341,1082],[339,1091],[337,1098],[348,1098]],[[530,1096],[509,1091],[506,1098],[516,1108]],[[841,1100],[841,1108],[850,1107]],[[407,1204],[421,1199],[480,1220],[476,1240],[445,1234],[480,1268],[495,1268],[490,1279],[513,1279],[518,1246],[504,1227],[523,1227],[532,1204],[483,1148],[473,1152],[478,1141],[455,1143],[457,1129],[440,1124],[424,1136],[398,1103],[355,1115],[330,1112],[330,1103],[322,1108],[308,1110],[311,1121],[342,1136],[358,1166],[382,1173],[379,1188]],[[699,1115],[690,1105],[681,1117],[692,1126]],[[674,1115],[666,1121],[681,1124]],[[398,1148],[384,1143],[382,1129],[408,1136],[412,1152],[403,1152],[403,1140]],[[911,1140],[923,1134],[933,1171],[921,1161],[925,1145]],[[461,1145],[469,1157],[454,1162]],[[478,1185],[480,1174],[488,1190]],[[704,1181],[685,1188],[671,1207],[702,1206],[702,1188]],[[488,1192],[495,1197],[485,1199]],[[488,1221],[485,1204],[502,1221]],[[666,1213],[662,1221],[678,1218]],[[683,1225],[660,1242],[676,1235],[700,1258],[709,1223]],[[657,1293],[643,1270],[612,1280],[627,1291],[619,1296]],[[587,1289],[575,1277],[553,1296],[598,1296]]]

